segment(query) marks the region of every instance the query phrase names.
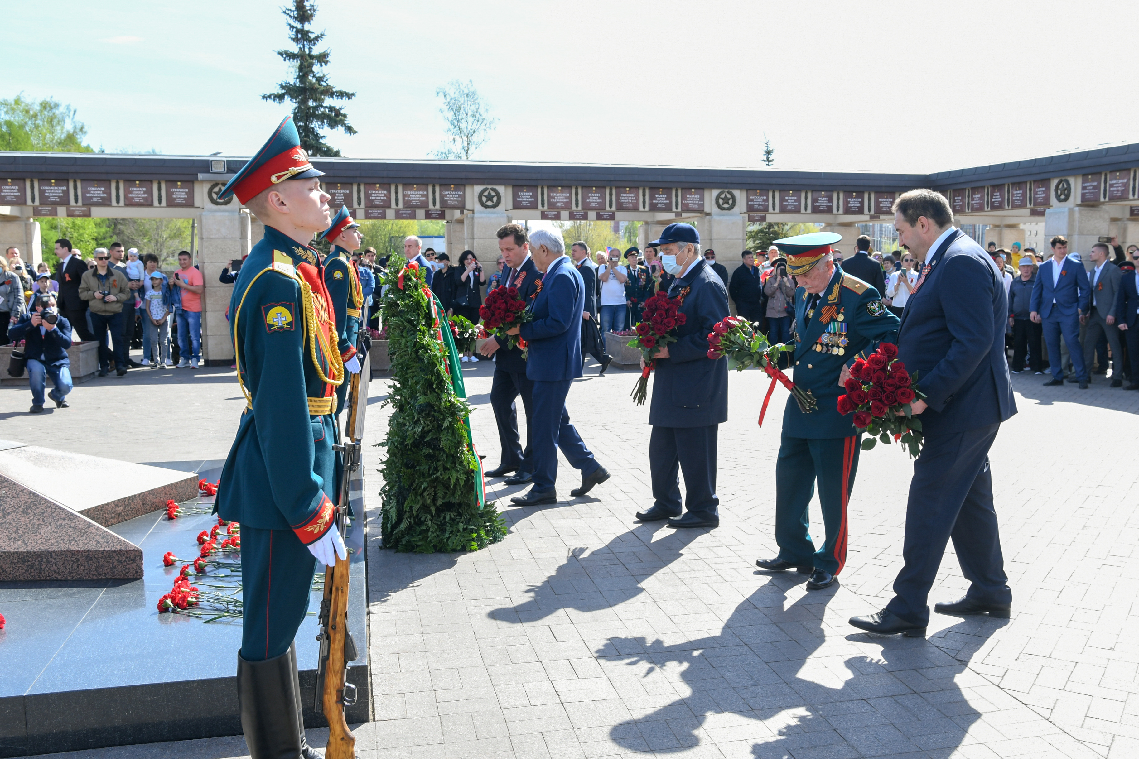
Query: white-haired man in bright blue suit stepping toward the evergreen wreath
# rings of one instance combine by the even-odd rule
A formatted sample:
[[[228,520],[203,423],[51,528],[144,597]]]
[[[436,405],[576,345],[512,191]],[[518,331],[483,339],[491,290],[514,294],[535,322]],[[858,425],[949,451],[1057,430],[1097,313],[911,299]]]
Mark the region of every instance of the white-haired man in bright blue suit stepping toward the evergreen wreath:
[[[531,306],[533,321],[515,327],[527,344],[526,377],[534,383],[533,428],[534,486],[511,503],[534,506],[556,503],[554,484],[558,476],[558,448],[574,469],[581,471],[581,487],[570,490],[577,497],[609,479],[582,443],[566,413],[566,396],[581,372],[581,314],[585,310],[585,286],[565,255],[562,237],[538,230],[530,237],[530,255],[542,272]]]

